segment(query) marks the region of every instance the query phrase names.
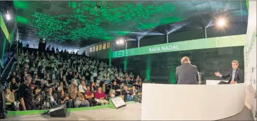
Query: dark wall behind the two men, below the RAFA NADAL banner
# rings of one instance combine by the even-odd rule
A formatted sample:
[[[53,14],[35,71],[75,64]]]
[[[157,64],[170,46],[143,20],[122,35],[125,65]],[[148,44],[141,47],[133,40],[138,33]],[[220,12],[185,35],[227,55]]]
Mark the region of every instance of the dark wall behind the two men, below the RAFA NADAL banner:
[[[146,77],[147,61],[150,60],[150,80],[157,83],[170,83],[169,76],[171,74],[174,74],[173,77],[175,76],[175,69],[180,65],[180,59],[183,56],[188,56],[191,64],[196,65],[200,69],[199,71],[205,74],[207,80],[219,80],[220,78],[214,76],[214,72],[227,74],[231,69],[231,62],[235,59],[239,61],[240,68],[244,71],[243,46],[113,58],[112,65],[123,68],[124,59],[127,58],[127,71],[144,78]]]

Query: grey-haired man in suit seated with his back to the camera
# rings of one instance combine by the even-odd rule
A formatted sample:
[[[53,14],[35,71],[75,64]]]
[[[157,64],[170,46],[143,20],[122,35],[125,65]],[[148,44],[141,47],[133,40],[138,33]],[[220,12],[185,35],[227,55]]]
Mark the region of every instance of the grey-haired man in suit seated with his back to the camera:
[[[186,56],[180,62],[181,66],[176,68],[177,84],[197,84],[197,67],[191,65],[190,59]]]

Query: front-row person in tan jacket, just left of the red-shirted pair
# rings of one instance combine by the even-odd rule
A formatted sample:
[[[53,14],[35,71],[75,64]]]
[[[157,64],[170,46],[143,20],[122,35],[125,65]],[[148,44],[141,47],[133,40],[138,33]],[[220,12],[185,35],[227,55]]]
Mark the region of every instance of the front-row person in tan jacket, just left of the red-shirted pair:
[[[78,88],[75,86],[73,92],[70,94],[71,99],[74,100],[74,107],[78,108],[79,106],[89,107],[89,102],[85,100],[84,96],[78,92]]]

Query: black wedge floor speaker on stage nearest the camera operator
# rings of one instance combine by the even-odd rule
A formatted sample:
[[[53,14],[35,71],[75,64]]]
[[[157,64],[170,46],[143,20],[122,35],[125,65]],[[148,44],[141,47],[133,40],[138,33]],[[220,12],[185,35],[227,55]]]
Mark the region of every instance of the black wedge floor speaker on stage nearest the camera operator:
[[[51,117],[67,117],[67,112],[67,105],[63,103],[59,107],[52,108],[49,114]]]

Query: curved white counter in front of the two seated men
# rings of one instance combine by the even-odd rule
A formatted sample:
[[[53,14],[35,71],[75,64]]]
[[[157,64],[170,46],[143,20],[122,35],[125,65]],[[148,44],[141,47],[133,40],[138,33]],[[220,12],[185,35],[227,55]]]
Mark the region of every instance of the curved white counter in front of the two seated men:
[[[218,120],[244,109],[245,83],[143,83],[141,120]]]

